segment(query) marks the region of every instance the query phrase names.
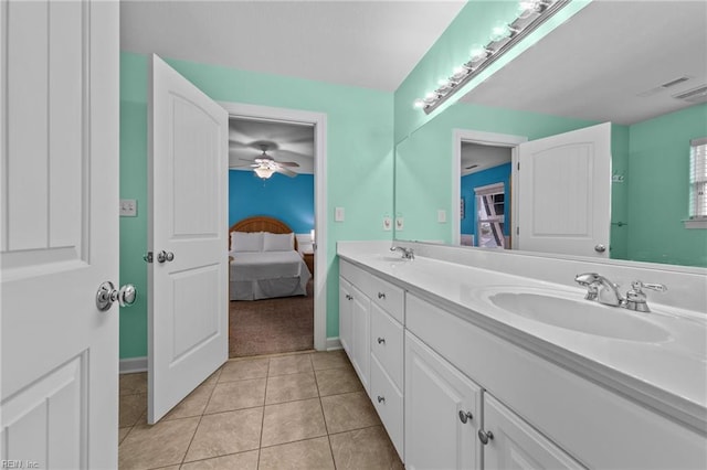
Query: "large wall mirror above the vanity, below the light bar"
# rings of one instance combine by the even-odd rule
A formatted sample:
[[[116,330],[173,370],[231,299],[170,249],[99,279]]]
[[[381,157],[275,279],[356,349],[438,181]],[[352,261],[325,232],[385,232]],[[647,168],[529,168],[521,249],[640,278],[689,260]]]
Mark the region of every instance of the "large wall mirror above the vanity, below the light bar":
[[[582,186],[591,169],[555,160],[520,180],[520,142],[603,122],[605,178]],[[685,222],[690,140],[704,137],[707,3],[593,1],[398,142],[394,237],[515,248],[524,224],[572,220],[572,193],[603,191],[585,217],[603,217],[605,253],[573,255],[707,267],[707,228]],[[534,185],[557,194],[539,215],[518,201]]]

